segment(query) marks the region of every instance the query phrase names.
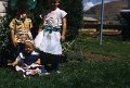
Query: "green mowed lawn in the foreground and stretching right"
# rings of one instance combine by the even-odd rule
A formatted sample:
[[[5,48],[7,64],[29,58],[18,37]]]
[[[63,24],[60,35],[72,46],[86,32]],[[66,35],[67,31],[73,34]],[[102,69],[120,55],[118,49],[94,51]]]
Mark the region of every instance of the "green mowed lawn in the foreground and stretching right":
[[[61,63],[61,74],[18,79],[12,67],[0,67],[0,88],[130,88],[130,43],[119,36],[99,41],[81,34],[72,50],[82,59]]]

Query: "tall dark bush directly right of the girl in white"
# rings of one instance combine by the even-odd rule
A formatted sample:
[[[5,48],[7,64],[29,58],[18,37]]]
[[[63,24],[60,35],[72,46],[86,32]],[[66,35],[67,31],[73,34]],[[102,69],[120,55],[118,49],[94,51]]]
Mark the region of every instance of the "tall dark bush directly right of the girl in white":
[[[82,26],[82,0],[62,0],[61,8],[67,14],[67,40],[75,39]]]

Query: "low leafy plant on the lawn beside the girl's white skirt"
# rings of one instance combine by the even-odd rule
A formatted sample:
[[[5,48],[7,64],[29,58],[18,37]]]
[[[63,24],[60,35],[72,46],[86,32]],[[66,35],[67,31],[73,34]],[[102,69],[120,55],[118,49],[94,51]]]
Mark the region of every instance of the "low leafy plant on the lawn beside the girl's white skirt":
[[[82,49],[78,47],[78,50],[77,50],[76,42],[77,42],[77,39],[62,43],[62,47],[63,47],[62,62],[66,62],[66,61],[77,62],[77,61],[83,60]]]

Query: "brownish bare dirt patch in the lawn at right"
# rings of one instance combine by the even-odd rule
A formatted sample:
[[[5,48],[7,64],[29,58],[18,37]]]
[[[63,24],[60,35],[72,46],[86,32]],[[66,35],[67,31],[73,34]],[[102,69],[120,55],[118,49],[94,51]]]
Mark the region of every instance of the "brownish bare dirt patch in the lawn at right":
[[[88,61],[95,61],[95,62],[103,62],[103,61],[112,61],[112,60],[118,60],[118,56],[115,55],[104,55],[104,54],[96,54],[91,52],[83,53],[84,60]]]

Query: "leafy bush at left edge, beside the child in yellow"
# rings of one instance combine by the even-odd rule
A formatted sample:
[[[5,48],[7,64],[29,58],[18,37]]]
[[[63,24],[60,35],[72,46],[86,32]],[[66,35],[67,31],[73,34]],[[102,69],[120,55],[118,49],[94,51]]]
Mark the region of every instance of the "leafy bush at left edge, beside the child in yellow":
[[[8,18],[0,17],[0,65],[5,62],[10,52],[10,29],[8,27]]]

